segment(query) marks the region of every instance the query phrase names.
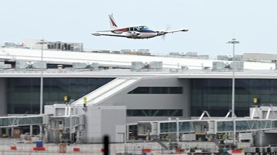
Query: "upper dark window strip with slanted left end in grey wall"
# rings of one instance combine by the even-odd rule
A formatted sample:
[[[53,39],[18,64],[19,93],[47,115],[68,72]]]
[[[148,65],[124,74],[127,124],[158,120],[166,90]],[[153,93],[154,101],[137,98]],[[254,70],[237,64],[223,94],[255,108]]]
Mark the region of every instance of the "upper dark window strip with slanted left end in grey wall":
[[[128,94],[183,94],[183,87],[136,87]]]

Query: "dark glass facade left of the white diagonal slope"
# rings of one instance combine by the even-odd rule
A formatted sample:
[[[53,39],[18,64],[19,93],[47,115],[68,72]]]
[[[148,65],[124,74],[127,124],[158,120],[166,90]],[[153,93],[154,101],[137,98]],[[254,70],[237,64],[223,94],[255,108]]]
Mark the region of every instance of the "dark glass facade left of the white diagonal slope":
[[[62,103],[80,97],[105,85],[112,78],[44,78],[44,104]],[[7,79],[8,114],[39,114],[39,78]]]

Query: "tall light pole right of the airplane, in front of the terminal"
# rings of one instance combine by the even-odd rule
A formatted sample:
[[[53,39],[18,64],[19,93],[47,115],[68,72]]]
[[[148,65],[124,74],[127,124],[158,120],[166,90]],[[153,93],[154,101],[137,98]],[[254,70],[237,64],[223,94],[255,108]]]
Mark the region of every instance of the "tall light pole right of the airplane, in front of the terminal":
[[[235,143],[235,44],[240,43],[236,39],[232,39],[231,41],[228,41],[227,43],[233,43],[233,65],[232,65],[232,71],[233,71],[233,77],[232,77],[232,118],[233,118],[233,143]]]

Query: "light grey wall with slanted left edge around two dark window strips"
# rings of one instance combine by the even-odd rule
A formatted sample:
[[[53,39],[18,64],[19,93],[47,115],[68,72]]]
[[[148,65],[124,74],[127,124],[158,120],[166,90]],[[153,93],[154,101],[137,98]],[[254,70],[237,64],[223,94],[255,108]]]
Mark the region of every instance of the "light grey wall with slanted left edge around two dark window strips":
[[[136,87],[184,87],[183,94],[128,94]],[[183,110],[183,116],[190,117],[189,79],[176,77],[145,78],[125,88],[118,94],[102,101],[99,105],[126,105],[127,110]],[[177,117],[172,117],[175,119]],[[127,116],[127,123],[138,121],[166,120],[168,116]]]

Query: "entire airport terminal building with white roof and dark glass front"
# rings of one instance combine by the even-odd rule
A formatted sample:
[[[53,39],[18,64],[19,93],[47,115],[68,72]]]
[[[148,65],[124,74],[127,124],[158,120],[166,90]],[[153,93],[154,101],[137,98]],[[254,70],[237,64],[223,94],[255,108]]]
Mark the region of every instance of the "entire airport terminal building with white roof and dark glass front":
[[[44,113],[56,112],[54,116],[58,116],[60,113],[54,110],[58,107],[53,105],[62,106],[64,96],[68,96],[73,105],[80,105],[74,112],[86,115],[86,123],[90,118],[99,121],[98,127],[87,127],[87,130],[97,132],[87,132],[87,135],[99,134],[109,123],[117,123],[114,124],[116,133],[121,134],[125,133],[127,123],[168,118],[188,120],[200,116],[204,110],[211,116],[225,116],[231,109],[232,72],[213,66],[215,62],[226,61],[58,50],[45,50],[44,55],[47,66],[43,72]],[[3,66],[11,67],[0,70],[1,116],[39,114],[41,69],[21,68],[17,63],[39,61],[39,56],[40,50],[1,49]],[[143,66],[132,70],[132,64],[141,64],[132,61],[159,61],[162,67]],[[97,68],[74,68],[76,63],[87,62],[97,63]],[[87,99],[86,110],[82,109],[84,96]],[[249,116],[253,99],[258,99],[256,104],[277,105],[275,63],[244,61],[243,68],[236,70],[235,114]],[[96,112],[100,109],[101,112]],[[122,136],[114,136],[114,141],[120,139]]]

